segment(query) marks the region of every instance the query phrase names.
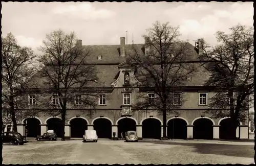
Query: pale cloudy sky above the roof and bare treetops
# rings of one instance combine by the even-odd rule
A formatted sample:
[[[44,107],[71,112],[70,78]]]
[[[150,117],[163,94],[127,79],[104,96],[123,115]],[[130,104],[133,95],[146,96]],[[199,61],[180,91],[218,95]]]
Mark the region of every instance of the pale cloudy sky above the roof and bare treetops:
[[[180,39],[195,44],[204,38],[217,44],[215,33],[228,33],[232,26],[253,26],[253,2],[2,2],[2,35],[11,32],[20,45],[35,53],[46,34],[62,29],[74,31],[83,45],[144,43],[142,35],[155,21],[180,27]]]

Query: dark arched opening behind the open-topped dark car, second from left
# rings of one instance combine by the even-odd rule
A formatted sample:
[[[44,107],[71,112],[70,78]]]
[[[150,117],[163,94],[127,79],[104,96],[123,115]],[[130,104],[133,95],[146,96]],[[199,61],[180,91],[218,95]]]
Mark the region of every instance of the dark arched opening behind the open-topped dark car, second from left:
[[[62,136],[62,130],[61,130],[61,120],[57,117],[53,117],[53,118],[50,118],[48,121],[47,121],[47,127],[48,127],[48,130],[53,130],[57,137],[61,137]]]

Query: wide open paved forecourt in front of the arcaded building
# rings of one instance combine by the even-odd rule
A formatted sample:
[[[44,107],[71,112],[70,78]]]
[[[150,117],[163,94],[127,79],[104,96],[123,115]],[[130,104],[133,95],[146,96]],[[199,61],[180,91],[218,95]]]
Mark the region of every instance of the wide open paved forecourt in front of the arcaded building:
[[[253,163],[254,143],[225,141],[139,141],[81,140],[30,141],[23,146],[3,145],[4,164],[171,164],[171,163]]]

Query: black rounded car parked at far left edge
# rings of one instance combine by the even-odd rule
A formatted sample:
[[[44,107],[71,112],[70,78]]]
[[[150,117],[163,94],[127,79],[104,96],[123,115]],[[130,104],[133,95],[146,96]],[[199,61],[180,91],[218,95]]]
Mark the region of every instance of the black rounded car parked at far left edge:
[[[26,140],[26,137],[18,132],[7,131],[2,133],[2,144],[12,143],[12,145],[24,145],[28,142],[29,141]]]

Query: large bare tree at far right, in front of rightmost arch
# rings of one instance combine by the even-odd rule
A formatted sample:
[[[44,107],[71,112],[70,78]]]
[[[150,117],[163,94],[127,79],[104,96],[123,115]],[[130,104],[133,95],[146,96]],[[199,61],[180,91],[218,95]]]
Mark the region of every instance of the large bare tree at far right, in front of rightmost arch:
[[[218,89],[210,103],[210,107],[218,109],[206,112],[214,118],[230,116],[230,137],[236,139],[238,121],[246,119],[249,96],[254,92],[253,29],[238,25],[230,31],[230,34],[216,33],[219,44],[215,48],[210,49],[208,44],[202,43],[200,59],[215,61],[202,64],[211,73],[206,85]]]

